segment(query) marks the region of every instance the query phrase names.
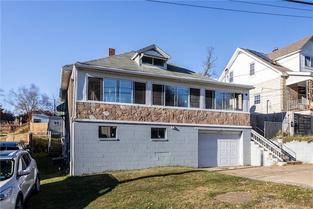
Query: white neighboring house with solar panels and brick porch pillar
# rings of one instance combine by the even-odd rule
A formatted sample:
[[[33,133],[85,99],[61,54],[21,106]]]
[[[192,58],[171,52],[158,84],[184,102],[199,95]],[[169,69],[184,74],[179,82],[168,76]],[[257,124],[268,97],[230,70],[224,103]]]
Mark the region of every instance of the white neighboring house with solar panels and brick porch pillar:
[[[255,87],[250,113],[311,114],[313,34],[269,54],[238,47],[218,80]]]

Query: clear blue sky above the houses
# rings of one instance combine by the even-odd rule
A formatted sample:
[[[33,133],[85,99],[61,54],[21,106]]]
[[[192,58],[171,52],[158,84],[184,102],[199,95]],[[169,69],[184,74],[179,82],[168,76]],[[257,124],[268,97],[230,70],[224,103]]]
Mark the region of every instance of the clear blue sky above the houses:
[[[237,47],[270,53],[310,34],[313,5],[286,0],[0,0],[0,89],[58,98],[62,66],[152,44],[194,72],[214,47],[220,75]]]

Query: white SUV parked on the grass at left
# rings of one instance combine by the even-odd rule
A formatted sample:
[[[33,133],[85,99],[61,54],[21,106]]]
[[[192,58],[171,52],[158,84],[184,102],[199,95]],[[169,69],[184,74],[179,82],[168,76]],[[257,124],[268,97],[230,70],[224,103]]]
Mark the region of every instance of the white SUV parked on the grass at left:
[[[39,189],[37,163],[27,151],[0,151],[1,209],[23,209],[26,198]]]

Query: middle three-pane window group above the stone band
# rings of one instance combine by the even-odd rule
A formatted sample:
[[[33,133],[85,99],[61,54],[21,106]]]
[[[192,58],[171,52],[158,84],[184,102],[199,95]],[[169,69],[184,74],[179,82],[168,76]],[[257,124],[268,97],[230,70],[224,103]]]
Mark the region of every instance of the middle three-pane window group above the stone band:
[[[200,108],[200,89],[153,84],[152,104]]]

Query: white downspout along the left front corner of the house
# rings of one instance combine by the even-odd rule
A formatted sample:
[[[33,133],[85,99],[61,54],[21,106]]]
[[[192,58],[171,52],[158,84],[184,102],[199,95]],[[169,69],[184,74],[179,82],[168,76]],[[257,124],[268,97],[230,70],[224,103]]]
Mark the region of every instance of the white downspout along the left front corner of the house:
[[[74,176],[74,125],[73,125],[73,119],[75,115],[75,101],[76,101],[76,67],[75,65],[73,66],[73,74],[74,74],[74,85],[73,85],[73,104],[72,104],[72,116],[70,118],[70,126],[71,126],[71,131],[70,131],[70,161],[69,161],[69,175]]]

